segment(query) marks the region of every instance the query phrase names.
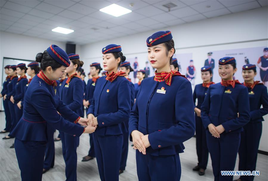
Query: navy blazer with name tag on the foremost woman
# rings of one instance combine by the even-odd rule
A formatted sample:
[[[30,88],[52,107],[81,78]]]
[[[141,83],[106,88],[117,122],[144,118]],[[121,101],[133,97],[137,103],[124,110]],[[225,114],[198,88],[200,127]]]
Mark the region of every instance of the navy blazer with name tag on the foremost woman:
[[[165,94],[158,93],[164,89]],[[128,122],[131,132],[138,130],[148,135],[147,153],[155,156],[182,153],[183,142],[195,132],[194,105],[190,81],[173,76],[171,86],[165,81],[146,78],[141,83]]]

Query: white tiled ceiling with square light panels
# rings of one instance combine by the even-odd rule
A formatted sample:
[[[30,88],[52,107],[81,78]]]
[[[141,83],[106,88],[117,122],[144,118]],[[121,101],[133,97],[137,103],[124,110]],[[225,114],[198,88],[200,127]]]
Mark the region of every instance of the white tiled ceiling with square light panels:
[[[172,2],[170,11],[162,6]],[[114,17],[99,9],[116,3],[132,10]],[[130,7],[133,3],[133,7]],[[0,30],[88,44],[268,5],[267,0],[1,0]],[[210,6],[210,7],[208,7]],[[75,30],[64,35],[55,27]],[[97,30],[95,30],[97,29]]]

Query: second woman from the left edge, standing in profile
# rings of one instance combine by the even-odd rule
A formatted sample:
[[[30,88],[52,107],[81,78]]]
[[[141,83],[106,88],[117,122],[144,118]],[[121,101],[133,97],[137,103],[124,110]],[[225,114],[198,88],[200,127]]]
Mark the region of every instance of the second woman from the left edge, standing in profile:
[[[4,95],[4,100],[7,100],[8,103],[8,109],[10,112],[10,120],[11,120],[11,127],[10,132],[14,129],[15,123],[16,123],[16,115],[15,115],[15,106],[14,103],[10,101],[10,97],[14,94],[14,89],[16,83],[18,83],[18,76],[17,76],[17,69],[16,65],[10,65],[9,67],[9,75],[10,75],[10,82],[7,84],[7,94]],[[3,140],[14,138],[10,134],[3,137]]]

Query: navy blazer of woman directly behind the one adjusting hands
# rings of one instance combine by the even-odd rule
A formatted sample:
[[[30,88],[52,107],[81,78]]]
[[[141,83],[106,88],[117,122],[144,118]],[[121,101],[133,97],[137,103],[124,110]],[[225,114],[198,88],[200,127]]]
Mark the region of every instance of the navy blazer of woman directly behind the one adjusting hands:
[[[73,77],[69,82],[69,85],[66,83],[68,79],[65,79],[61,86],[60,90],[60,99],[66,104],[69,109],[83,117],[83,94],[84,94],[84,84],[78,77]],[[67,119],[67,117],[65,117]]]

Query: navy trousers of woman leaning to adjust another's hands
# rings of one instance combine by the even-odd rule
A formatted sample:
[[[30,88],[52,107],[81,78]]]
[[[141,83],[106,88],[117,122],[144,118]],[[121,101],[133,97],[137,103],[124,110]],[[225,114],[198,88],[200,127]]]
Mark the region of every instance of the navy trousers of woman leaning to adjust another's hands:
[[[46,141],[15,139],[15,151],[22,181],[42,181]]]

